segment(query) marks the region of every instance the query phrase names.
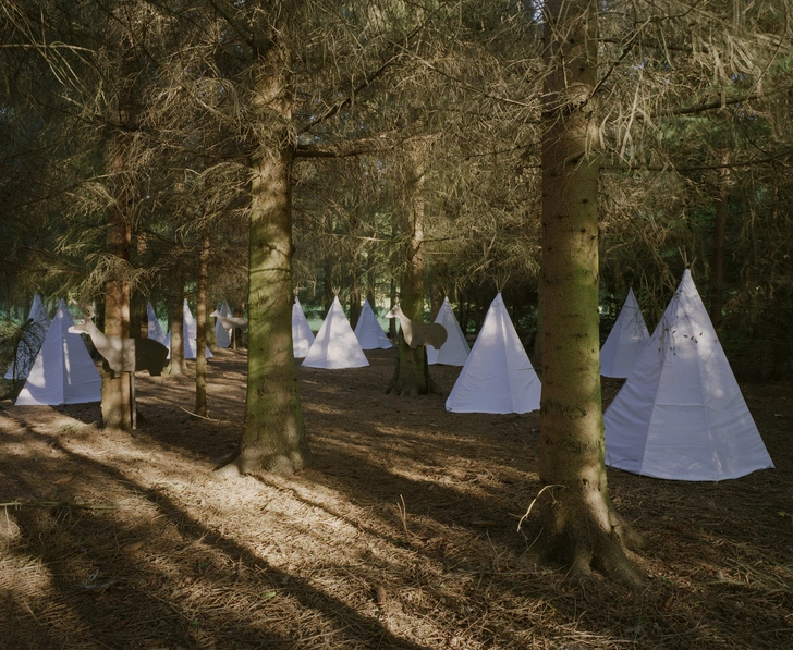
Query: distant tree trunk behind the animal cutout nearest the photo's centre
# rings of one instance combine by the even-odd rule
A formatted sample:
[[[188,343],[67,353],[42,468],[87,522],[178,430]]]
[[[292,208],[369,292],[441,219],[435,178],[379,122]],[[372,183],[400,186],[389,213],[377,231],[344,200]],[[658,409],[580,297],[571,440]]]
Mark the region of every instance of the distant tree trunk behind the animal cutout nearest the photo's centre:
[[[411,320],[424,322],[424,181],[425,148],[423,144],[408,149],[405,182],[405,219],[403,230],[408,235],[404,249],[405,270],[400,286],[400,307]],[[429,377],[427,348],[411,349],[400,330],[396,365],[388,387],[395,395],[428,395],[437,390]]]

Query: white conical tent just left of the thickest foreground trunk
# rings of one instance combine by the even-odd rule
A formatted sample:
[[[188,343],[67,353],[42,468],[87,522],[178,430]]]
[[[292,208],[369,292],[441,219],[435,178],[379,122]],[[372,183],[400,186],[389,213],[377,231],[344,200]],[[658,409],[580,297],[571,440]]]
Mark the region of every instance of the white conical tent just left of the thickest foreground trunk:
[[[499,293],[446,406],[453,413],[528,413],[539,408],[540,381]]]

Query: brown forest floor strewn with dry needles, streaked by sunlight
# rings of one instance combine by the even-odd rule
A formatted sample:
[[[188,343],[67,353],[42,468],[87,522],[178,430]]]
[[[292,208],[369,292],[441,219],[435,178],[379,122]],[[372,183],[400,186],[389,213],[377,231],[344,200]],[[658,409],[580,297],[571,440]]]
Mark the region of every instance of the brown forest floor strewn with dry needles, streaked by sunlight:
[[[776,469],[609,469],[650,542],[632,591],[533,562],[537,413],[386,395],[393,354],[298,369],[314,465],[291,478],[212,473],[243,352],[209,363],[209,420],[190,373],[138,376],[132,433],[101,431],[96,404],[0,403],[0,648],[793,648],[793,384],[742,385]],[[450,390],[459,371],[431,373]]]

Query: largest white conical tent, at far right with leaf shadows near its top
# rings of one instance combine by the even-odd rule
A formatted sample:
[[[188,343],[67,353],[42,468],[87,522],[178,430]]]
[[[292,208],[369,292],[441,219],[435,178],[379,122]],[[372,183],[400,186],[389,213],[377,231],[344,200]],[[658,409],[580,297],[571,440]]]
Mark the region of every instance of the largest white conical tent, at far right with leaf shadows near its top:
[[[603,414],[606,463],[717,481],[773,467],[691,272]]]

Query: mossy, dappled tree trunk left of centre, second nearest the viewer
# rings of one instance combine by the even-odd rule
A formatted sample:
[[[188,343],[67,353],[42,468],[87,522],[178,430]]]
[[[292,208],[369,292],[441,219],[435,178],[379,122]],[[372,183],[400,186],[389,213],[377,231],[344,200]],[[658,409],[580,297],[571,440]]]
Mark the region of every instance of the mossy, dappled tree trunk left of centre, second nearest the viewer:
[[[267,131],[252,161],[245,427],[239,455],[229,467],[243,474],[289,475],[310,461],[292,348],[289,51],[274,42],[258,66],[256,119]]]

